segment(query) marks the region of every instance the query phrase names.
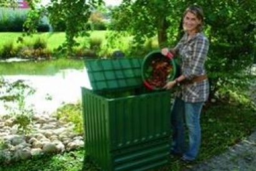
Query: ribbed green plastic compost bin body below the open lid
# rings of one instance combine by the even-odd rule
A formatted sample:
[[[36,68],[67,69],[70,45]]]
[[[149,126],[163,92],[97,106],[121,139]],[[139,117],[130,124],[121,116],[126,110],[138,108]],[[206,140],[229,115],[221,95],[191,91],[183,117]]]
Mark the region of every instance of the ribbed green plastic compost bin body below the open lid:
[[[144,149],[144,144],[170,137],[170,91],[105,98],[82,88],[82,106],[86,153],[102,168],[148,170],[166,164],[163,157],[169,154],[170,142],[155,145],[154,152],[150,152],[151,147]],[[135,152],[130,148],[139,149]],[[144,150],[148,150],[147,157],[139,159]],[[126,154],[114,155],[123,151]]]

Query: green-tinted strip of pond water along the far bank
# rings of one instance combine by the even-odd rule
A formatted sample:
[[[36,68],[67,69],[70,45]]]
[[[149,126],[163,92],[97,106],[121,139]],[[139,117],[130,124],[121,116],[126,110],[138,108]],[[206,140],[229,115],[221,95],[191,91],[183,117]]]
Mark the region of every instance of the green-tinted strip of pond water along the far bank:
[[[84,61],[60,58],[39,62],[0,63],[0,66],[0,75],[54,75],[59,70],[69,68],[80,70],[84,68]]]

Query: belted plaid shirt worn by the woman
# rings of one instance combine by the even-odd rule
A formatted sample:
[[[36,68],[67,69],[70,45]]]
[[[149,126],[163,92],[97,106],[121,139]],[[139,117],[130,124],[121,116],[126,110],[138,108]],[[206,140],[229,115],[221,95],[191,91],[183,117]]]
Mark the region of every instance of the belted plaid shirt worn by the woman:
[[[181,74],[186,80],[192,80],[195,76],[206,75],[204,63],[209,50],[209,40],[202,33],[197,33],[189,41],[187,38],[188,35],[184,34],[174,49],[181,58]],[[209,81],[181,84],[176,96],[190,103],[207,101]]]

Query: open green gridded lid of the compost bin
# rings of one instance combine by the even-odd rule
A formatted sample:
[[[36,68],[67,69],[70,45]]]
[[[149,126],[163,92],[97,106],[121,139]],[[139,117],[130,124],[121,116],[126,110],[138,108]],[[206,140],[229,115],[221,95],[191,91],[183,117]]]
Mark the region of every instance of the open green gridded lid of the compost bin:
[[[86,59],[86,71],[92,90],[121,90],[143,85],[143,58]]]

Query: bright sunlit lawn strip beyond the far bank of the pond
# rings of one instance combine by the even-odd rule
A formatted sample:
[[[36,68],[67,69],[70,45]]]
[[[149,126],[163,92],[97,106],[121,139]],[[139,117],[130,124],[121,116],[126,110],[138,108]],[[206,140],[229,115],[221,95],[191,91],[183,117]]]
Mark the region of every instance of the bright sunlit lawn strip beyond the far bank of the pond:
[[[114,50],[122,50],[126,54],[129,54],[132,52],[133,47],[132,44],[130,44],[130,40],[132,40],[132,36],[130,35],[120,35],[115,36],[114,39],[111,42],[107,42],[106,37],[108,37],[108,31],[91,31],[88,32],[90,35],[89,37],[77,37],[77,42],[80,43],[79,47],[75,47],[75,49],[79,49],[81,47],[89,47],[89,41],[90,40],[102,40],[101,49],[99,50],[99,55],[106,56],[106,54],[114,52]],[[17,43],[17,38],[21,37],[22,33],[13,33],[13,32],[1,32],[0,33],[0,50],[3,45],[9,44],[10,42],[14,43],[14,48],[17,49],[17,47],[23,47],[27,44],[31,45],[36,42],[36,40],[40,37],[42,40],[46,41],[47,49],[53,51],[59,47],[59,45],[62,45],[64,41],[66,40],[65,33],[64,32],[54,32],[54,33],[38,33],[32,35],[32,37],[23,37],[23,42]],[[152,41],[151,41],[152,40]],[[149,43],[150,42],[150,43]],[[111,46],[109,46],[111,44]],[[152,39],[149,39],[147,42],[145,42],[145,49],[151,51],[152,49],[158,49],[158,43],[157,43],[157,37],[153,37]],[[139,50],[140,53],[143,52],[143,50]],[[148,53],[148,52],[145,52]],[[143,53],[144,54],[144,53]],[[145,54],[144,54],[145,55]]]

